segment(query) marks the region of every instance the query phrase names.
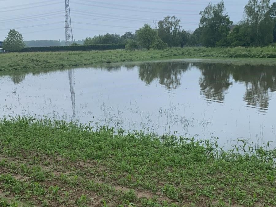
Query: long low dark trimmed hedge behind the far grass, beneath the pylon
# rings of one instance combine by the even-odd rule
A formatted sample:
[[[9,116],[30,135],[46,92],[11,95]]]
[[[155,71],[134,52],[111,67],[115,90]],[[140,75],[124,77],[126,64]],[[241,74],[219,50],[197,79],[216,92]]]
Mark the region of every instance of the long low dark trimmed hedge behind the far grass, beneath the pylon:
[[[113,50],[125,49],[125,44],[95,44],[76,46],[52,46],[23,48],[20,52],[58,52],[58,51],[89,51],[89,50]]]

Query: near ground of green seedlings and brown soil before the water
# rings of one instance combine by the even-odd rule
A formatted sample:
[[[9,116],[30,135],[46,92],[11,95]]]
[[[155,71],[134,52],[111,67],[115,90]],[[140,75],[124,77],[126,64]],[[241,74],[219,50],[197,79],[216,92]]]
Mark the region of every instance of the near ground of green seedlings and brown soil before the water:
[[[276,150],[241,144],[2,119],[0,206],[276,205]]]

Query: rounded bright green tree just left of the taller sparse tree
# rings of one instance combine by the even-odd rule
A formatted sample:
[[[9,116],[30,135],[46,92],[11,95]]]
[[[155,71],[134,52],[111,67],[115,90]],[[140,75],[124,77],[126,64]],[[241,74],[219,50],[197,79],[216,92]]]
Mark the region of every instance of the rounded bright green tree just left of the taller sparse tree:
[[[151,45],[158,38],[157,31],[152,29],[150,25],[144,24],[144,27],[136,31],[137,38],[141,46],[150,49]]]

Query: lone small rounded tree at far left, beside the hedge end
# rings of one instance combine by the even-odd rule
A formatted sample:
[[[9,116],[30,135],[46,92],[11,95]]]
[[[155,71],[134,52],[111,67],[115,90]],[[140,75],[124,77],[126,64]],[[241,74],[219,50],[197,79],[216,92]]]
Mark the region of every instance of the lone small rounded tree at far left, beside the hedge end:
[[[15,29],[10,29],[8,36],[3,41],[3,48],[10,52],[19,52],[25,47],[22,34]]]

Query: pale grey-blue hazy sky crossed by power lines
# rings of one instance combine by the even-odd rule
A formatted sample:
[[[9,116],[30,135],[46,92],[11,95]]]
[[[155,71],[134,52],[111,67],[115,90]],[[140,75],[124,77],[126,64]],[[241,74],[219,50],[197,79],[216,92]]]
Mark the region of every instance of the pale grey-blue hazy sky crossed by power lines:
[[[218,3],[220,0],[213,0]],[[224,0],[226,12],[237,23],[248,0]],[[135,32],[145,23],[155,27],[165,16],[176,16],[182,29],[198,27],[205,0],[70,0],[75,40],[105,33]],[[65,0],[0,0],[0,41],[10,29],[24,40],[65,40]]]

